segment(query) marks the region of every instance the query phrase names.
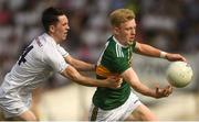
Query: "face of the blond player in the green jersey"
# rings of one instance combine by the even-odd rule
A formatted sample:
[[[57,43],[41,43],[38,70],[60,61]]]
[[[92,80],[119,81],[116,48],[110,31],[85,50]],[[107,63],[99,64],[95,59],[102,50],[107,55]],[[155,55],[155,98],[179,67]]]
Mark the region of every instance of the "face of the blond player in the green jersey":
[[[128,45],[135,40],[136,34],[136,22],[135,19],[122,23],[115,29],[116,36],[122,41],[122,44]]]

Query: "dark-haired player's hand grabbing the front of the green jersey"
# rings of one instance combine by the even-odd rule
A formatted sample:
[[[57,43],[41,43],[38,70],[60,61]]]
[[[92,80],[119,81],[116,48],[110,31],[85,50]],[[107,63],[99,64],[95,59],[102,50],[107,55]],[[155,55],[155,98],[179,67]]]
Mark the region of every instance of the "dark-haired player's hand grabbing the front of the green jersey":
[[[123,78],[119,76],[109,76],[107,79],[105,79],[107,82],[107,87],[112,88],[112,89],[116,89],[119,88],[122,82],[123,82]]]

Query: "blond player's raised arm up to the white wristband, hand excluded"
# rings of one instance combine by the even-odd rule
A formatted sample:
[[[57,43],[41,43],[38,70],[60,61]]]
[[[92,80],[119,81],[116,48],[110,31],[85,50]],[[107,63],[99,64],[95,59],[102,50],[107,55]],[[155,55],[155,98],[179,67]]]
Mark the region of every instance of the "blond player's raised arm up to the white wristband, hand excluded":
[[[163,58],[165,58],[167,54],[156,47],[138,42],[136,42],[136,53],[145,56],[163,57]]]

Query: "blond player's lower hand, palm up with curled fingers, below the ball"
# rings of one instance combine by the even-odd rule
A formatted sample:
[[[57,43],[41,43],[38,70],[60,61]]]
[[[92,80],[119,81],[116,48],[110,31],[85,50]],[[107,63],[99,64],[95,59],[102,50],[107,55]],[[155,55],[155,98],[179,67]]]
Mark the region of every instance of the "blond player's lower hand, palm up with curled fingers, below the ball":
[[[168,97],[172,92],[172,87],[168,85],[165,88],[159,88],[158,86],[156,87],[156,98],[164,98]]]

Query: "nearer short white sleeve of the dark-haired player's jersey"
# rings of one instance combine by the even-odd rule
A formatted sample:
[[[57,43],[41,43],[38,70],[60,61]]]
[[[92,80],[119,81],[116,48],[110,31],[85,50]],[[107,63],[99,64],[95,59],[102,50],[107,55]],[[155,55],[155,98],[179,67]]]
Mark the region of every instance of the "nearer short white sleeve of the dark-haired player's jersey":
[[[62,73],[69,66],[57,49],[45,49],[44,55],[44,62],[57,73]]]

